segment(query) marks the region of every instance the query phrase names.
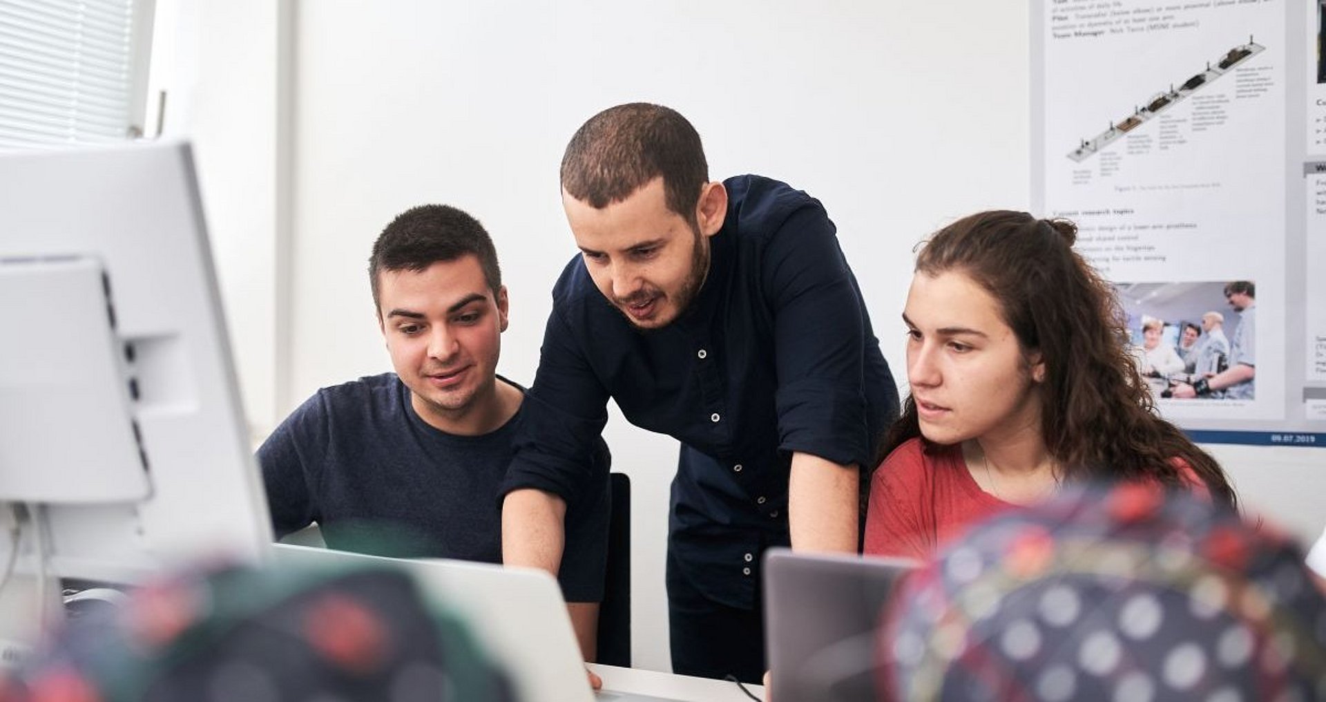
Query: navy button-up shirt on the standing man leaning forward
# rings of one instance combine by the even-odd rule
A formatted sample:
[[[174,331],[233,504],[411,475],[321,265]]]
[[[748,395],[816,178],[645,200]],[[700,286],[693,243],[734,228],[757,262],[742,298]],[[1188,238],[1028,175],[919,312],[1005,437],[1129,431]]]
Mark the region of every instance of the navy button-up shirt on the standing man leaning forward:
[[[789,543],[792,454],[869,467],[898,391],[819,202],[756,175],[724,184],[708,277],[668,326],[635,329],[579,256],[562,271],[504,492],[545,490],[574,510],[606,479],[586,456],[613,398],[682,442],[678,564],[709,598],[752,608],[758,555]]]

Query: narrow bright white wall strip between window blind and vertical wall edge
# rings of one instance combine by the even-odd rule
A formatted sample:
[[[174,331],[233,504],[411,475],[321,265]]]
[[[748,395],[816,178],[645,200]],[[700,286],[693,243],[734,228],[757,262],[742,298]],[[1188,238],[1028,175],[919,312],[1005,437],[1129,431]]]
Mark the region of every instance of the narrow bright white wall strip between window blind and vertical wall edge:
[[[163,0],[154,66],[163,134],[194,143],[240,391],[255,434],[277,415],[278,3]],[[150,98],[155,109],[155,96]]]

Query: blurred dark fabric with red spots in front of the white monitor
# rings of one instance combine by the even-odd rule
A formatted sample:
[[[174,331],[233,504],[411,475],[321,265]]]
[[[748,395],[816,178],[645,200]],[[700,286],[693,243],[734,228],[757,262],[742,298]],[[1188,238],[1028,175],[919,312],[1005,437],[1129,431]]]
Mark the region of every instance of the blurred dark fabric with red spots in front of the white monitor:
[[[221,568],[72,622],[0,702],[514,699],[467,626],[403,572]]]

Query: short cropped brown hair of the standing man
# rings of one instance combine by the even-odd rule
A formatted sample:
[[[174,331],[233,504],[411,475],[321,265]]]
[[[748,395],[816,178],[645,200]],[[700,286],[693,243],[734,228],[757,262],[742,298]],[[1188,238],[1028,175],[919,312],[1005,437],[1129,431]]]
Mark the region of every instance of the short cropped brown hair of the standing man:
[[[695,223],[709,179],[700,135],[676,110],[647,102],[609,107],[582,125],[562,155],[562,190],[602,210],[663,176],[668,210]]]

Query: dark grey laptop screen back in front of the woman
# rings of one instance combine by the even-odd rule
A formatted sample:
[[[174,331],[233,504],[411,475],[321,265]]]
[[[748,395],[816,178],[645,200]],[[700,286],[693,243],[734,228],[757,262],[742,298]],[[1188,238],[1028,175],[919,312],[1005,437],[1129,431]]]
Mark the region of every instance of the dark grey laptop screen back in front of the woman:
[[[874,702],[879,616],[918,565],[911,559],[769,549],[764,629],[777,702]]]

